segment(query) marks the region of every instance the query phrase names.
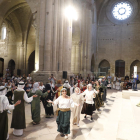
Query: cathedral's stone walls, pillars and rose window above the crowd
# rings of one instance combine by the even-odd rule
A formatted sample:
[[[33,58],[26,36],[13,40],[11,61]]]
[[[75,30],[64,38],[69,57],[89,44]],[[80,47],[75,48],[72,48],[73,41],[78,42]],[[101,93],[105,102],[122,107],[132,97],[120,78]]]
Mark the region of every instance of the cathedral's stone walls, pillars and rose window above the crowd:
[[[0,74],[140,74],[138,0],[0,0]],[[72,6],[71,6],[72,5]]]

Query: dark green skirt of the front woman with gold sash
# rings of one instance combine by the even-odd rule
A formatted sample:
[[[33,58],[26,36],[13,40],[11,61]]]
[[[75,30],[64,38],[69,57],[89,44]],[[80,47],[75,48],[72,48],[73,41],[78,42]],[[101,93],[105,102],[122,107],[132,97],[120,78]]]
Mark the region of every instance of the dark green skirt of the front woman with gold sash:
[[[56,122],[58,125],[58,132],[63,134],[70,134],[70,115],[71,111],[62,112],[59,111]]]

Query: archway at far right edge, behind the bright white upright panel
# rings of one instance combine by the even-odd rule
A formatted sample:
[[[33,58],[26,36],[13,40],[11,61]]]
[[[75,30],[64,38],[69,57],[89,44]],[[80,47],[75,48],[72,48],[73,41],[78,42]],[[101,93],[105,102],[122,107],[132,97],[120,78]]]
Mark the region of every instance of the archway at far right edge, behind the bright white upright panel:
[[[140,61],[135,60],[132,62],[131,66],[130,66],[130,77],[133,74],[134,66],[137,66],[137,74],[140,76]]]

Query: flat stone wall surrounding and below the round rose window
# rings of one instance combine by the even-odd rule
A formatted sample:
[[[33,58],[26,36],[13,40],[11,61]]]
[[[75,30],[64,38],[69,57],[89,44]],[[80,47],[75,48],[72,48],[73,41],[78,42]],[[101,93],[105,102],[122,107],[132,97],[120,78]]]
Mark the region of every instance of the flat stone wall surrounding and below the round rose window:
[[[113,23],[107,16],[109,4],[103,6],[99,17],[96,64],[98,66],[103,59],[107,59],[113,76],[115,61],[124,60],[125,74],[130,74],[131,63],[140,60],[140,12],[127,23]]]

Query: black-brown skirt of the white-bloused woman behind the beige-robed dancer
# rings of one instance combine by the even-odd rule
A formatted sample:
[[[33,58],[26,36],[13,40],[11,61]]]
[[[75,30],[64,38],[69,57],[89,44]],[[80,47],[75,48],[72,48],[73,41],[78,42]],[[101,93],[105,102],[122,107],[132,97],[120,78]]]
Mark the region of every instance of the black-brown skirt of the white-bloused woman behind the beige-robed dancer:
[[[92,112],[95,111],[95,104],[83,104],[81,114],[92,115]]]

